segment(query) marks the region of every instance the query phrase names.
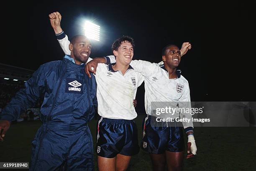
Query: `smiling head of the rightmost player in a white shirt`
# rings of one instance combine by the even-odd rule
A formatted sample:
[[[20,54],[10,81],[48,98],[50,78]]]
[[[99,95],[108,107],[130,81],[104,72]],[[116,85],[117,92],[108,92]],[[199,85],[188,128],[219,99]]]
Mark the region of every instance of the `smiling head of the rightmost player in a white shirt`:
[[[181,59],[181,53],[177,46],[169,46],[165,50],[165,55],[162,56],[162,60],[166,63],[170,68],[176,68],[179,66],[179,62]]]

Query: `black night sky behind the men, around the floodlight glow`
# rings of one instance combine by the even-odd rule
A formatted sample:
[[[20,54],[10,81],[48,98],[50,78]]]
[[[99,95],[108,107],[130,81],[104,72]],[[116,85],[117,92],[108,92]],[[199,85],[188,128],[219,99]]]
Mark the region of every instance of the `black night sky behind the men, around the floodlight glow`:
[[[161,60],[166,44],[180,47],[189,41],[192,49],[179,69],[189,81],[192,101],[256,101],[253,4],[148,2],[5,2],[2,8],[10,10],[1,12],[7,46],[0,63],[36,70],[48,61],[62,59],[64,53],[48,18],[49,13],[59,11],[61,26],[69,37],[81,33],[81,17],[101,26],[102,41],[94,44],[91,57],[112,54],[111,44],[122,35],[132,36],[136,42],[133,59],[151,62]],[[143,100],[143,94],[142,87],[137,98]]]

